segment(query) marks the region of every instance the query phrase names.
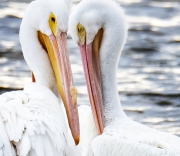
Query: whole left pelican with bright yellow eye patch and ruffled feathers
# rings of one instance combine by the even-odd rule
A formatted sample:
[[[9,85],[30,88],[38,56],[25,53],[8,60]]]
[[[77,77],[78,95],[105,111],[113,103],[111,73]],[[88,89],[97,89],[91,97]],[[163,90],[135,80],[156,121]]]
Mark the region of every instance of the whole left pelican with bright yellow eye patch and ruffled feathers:
[[[75,145],[79,142],[77,92],[66,45],[67,4],[37,0],[25,11],[20,42],[36,83],[0,96],[0,155],[16,155],[13,145],[20,156],[80,155]]]

